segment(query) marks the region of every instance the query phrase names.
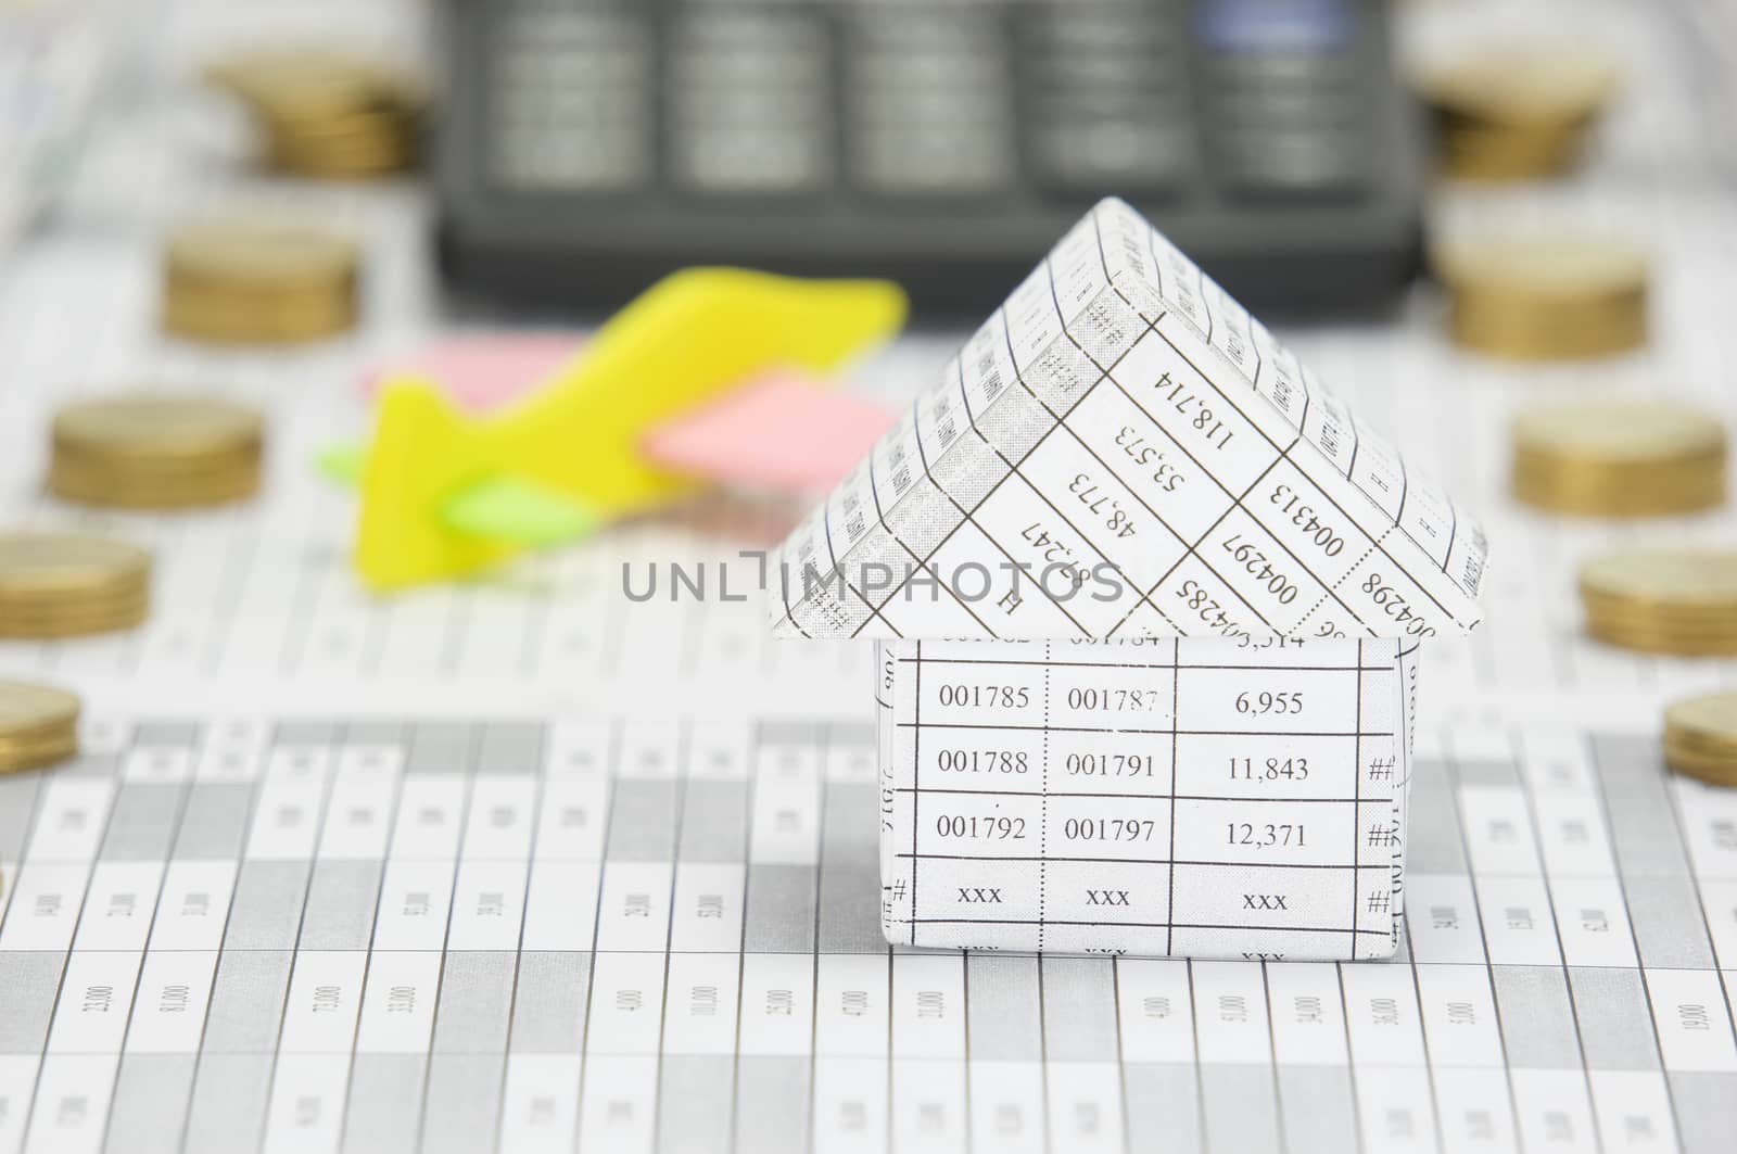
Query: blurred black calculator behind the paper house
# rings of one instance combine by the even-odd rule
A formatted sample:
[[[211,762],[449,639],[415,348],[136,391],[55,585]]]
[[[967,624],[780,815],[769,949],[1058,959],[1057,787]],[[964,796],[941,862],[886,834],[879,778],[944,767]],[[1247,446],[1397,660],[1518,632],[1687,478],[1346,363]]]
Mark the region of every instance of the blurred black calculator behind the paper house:
[[[1414,273],[1386,0],[441,0],[460,285],[617,306],[684,264],[995,306],[1098,196],[1251,308]]]

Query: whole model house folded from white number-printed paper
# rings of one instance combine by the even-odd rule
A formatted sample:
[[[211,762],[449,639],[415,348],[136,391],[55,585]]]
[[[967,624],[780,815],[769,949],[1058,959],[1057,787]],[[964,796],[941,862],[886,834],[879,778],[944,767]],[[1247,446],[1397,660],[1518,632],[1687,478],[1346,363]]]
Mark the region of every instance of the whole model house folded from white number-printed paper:
[[[1485,537],[1105,200],[783,544],[875,638],[895,944],[1383,958],[1416,655]]]

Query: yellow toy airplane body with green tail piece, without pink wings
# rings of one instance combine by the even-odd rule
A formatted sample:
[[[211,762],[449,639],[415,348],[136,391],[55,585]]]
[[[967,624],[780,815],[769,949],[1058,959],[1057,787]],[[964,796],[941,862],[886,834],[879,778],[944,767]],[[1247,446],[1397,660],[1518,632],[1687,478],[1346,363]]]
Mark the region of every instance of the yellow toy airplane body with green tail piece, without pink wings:
[[[646,429],[773,365],[830,370],[903,318],[889,282],[695,268],[504,410],[467,415],[433,381],[389,381],[373,443],[321,462],[361,485],[356,570],[373,589],[462,577],[691,492],[639,457]]]

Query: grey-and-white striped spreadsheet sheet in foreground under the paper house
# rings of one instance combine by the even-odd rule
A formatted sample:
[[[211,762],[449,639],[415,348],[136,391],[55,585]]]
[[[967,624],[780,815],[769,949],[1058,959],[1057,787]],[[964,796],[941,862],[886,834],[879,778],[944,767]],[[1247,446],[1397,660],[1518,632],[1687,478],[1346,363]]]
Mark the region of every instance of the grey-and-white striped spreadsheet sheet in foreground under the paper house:
[[[1728,1149],[1737,796],[1419,739],[1334,965],[888,949],[862,723],[108,718],[0,779],[0,1142]]]

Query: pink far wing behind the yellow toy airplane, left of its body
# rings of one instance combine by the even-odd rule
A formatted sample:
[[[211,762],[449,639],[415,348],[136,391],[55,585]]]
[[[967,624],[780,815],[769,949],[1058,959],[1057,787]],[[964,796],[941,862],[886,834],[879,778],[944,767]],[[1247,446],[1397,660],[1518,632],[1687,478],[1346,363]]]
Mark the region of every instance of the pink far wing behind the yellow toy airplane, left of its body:
[[[408,356],[386,361],[363,377],[363,395],[373,396],[387,377],[429,377],[471,412],[499,408],[544,384],[580,339],[571,332],[476,332],[436,341]]]

